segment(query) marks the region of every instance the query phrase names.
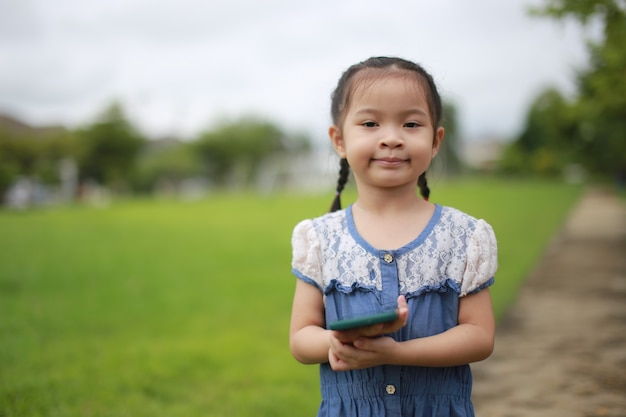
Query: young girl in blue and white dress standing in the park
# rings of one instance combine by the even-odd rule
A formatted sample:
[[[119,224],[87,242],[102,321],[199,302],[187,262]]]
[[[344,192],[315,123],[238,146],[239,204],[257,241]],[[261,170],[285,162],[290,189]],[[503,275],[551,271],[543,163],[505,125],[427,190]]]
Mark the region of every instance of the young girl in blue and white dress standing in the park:
[[[485,221],[428,202],[441,113],[432,77],[399,58],[350,67],[332,95],[337,197],[292,238],[290,348],[320,364],[318,416],[474,415],[468,364],[493,350],[497,249]],[[350,170],[358,198],[341,210]],[[393,322],[327,330],[390,308]]]

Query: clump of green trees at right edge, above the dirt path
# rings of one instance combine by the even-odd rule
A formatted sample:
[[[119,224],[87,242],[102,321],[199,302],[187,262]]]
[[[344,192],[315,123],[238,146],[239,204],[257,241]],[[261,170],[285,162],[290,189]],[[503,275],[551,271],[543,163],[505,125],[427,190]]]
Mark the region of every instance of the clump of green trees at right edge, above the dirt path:
[[[534,14],[574,18],[603,28],[588,42],[590,61],[579,70],[577,91],[567,98],[555,88],[543,91],[528,110],[521,134],[505,150],[507,173],[560,175],[579,166],[593,176],[626,176],[626,2],[548,0]]]

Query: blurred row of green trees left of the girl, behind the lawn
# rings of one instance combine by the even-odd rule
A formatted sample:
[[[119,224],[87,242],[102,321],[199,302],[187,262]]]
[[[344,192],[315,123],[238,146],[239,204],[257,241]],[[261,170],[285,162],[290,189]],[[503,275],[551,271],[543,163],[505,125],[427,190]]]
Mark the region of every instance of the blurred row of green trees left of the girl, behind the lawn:
[[[0,197],[20,178],[59,184],[68,161],[77,194],[89,184],[116,194],[152,192],[159,184],[175,187],[189,178],[204,178],[215,187],[245,187],[265,161],[310,148],[306,135],[287,134],[255,117],[223,121],[190,141],[149,140],[116,103],[74,130],[33,128],[0,117]]]

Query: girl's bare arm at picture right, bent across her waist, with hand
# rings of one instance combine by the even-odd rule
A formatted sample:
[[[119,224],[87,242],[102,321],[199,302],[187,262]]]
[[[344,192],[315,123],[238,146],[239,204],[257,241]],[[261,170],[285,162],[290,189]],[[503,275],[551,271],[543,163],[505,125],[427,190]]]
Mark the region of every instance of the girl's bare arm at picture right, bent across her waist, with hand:
[[[438,335],[396,342],[390,337],[359,338],[346,344],[331,338],[331,366],[335,370],[371,366],[456,366],[491,355],[495,319],[489,289],[459,300],[459,324]]]

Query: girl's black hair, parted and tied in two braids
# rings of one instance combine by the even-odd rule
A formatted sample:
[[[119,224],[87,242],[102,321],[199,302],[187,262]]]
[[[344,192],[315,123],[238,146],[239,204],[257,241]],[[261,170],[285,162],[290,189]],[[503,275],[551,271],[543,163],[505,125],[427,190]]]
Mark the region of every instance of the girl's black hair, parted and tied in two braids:
[[[330,114],[332,121],[336,126],[341,126],[345,110],[350,104],[352,88],[355,84],[355,75],[364,70],[405,71],[415,73],[418,81],[425,87],[426,101],[428,103],[431,122],[435,128],[436,134],[437,127],[439,126],[443,116],[443,108],[441,104],[441,97],[439,96],[433,77],[421,65],[406,59],[395,57],[369,58],[365,61],[359,62],[358,64],[352,65],[341,75],[341,78],[339,78],[339,82],[337,83],[337,87],[331,95]],[[350,165],[345,158],[342,158],[339,161],[339,178],[337,180],[335,199],[330,207],[331,212],[341,209],[341,192],[348,181],[349,175]],[[420,189],[422,197],[428,200],[428,197],[430,196],[430,189],[428,188],[425,172],[419,176],[417,186]]]

